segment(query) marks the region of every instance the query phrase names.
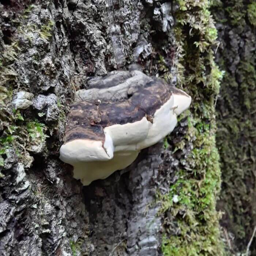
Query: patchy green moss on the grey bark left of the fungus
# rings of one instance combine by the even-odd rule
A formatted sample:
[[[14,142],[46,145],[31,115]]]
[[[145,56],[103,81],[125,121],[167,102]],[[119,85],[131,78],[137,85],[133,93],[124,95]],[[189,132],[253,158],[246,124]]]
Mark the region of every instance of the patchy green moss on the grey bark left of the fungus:
[[[29,6],[22,15],[19,16],[20,24],[17,30],[18,34],[26,34],[24,31],[38,33],[36,25],[27,24],[27,15],[30,14],[34,6]],[[49,21],[47,25],[42,26],[42,33],[47,36],[53,29],[53,22]],[[26,158],[26,151],[30,150],[31,144],[42,143],[46,139],[45,126],[33,117],[23,116],[23,110],[12,109],[11,101],[13,91],[16,92],[18,83],[18,74],[14,67],[19,59],[22,50],[19,48],[18,38],[12,39],[11,45],[4,45],[0,52],[0,119],[2,127],[0,136],[0,165],[3,166],[3,155],[8,148],[15,150],[19,161],[23,162],[23,156]],[[24,88],[24,87],[23,87]],[[24,88],[25,89],[25,88]],[[24,158],[24,159],[25,159]],[[25,161],[25,160],[24,160]]]

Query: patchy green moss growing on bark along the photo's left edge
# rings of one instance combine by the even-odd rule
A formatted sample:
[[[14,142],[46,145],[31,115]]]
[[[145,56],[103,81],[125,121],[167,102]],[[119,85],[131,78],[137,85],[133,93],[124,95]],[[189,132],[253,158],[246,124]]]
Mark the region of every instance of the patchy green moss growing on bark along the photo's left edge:
[[[20,57],[27,53],[24,45],[20,46],[21,35],[29,40],[31,46],[31,38],[27,35],[28,31],[31,34],[41,33],[36,25],[27,25],[27,14],[34,9],[34,5],[29,5],[24,10],[19,10],[17,19],[12,21],[12,25],[18,24],[18,33],[8,40],[3,45],[0,52],[0,166],[4,167],[4,158],[8,157],[8,151],[14,150],[20,161],[25,167],[31,165],[33,158],[29,152],[31,147],[40,146],[42,151],[45,150],[46,140],[46,125],[41,123],[37,117],[28,114],[27,112],[17,110],[12,106],[11,101],[19,90],[28,90],[27,84],[23,81],[15,70]],[[19,21],[18,21],[19,20]],[[49,21],[52,29],[52,22]],[[47,27],[44,25],[44,29]],[[49,30],[48,30],[49,31]],[[53,31],[51,31],[53,32]],[[49,38],[52,33],[49,32]],[[36,61],[35,63],[36,64]],[[27,114],[27,115],[26,115]],[[1,175],[1,172],[0,172]]]

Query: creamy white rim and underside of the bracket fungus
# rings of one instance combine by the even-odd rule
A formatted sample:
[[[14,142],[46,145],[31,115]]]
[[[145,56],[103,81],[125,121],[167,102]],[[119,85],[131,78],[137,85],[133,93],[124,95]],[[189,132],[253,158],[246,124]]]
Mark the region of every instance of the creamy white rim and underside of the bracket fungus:
[[[159,108],[153,123],[146,117],[128,124],[115,124],[104,129],[105,142],[72,140],[60,148],[60,159],[74,166],[74,177],[83,185],[104,179],[116,170],[129,166],[143,148],[154,145],[173,131],[177,115],[191,103],[189,95],[172,94]]]

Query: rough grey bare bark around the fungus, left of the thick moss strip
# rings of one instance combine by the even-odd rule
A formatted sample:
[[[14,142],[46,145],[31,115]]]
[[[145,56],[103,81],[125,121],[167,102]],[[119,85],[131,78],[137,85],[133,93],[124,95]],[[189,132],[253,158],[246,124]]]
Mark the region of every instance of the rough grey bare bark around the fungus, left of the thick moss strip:
[[[162,144],[83,189],[58,157],[88,76],[133,62],[158,74],[154,56],[171,52],[171,3],[1,0],[0,12],[1,255],[158,255],[155,194],[168,191],[164,163],[175,163]]]

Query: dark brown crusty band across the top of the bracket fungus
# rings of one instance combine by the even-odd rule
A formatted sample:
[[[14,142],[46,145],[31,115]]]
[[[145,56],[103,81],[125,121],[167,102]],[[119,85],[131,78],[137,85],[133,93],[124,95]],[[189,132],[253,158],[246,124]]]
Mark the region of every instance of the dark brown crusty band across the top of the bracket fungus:
[[[127,77],[131,76],[125,71],[122,77],[121,82],[124,82]],[[109,76],[105,79],[109,79]],[[111,79],[104,82],[105,79],[95,78],[91,84],[94,82],[94,86],[97,88],[111,87]],[[117,80],[114,84],[116,83]],[[127,88],[128,90],[129,88]],[[105,127],[134,123],[142,120],[143,117],[154,117],[156,110],[172,95],[171,88],[157,78],[152,78],[150,82],[146,82],[144,86],[137,87],[133,91],[132,95],[128,95],[121,101],[99,103],[95,100],[74,103],[68,114],[65,131],[66,142],[76,139],[101,140],[103,142]]]

